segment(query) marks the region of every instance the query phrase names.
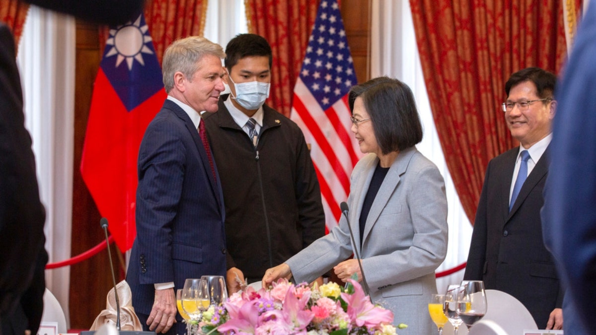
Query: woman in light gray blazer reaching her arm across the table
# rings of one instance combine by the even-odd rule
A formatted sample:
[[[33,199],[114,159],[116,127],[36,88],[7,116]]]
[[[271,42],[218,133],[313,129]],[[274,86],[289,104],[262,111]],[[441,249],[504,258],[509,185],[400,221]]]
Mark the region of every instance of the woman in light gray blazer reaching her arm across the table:
[[[343,281],[353,274],[361,280],[358,260],[345,260],[357,250],[371,300],[393,311],[395,324],[408,325],[399,334],[431,334],[427,304],[447,252],[443,177],[415,148],[422,126],[405,83],[371,79],[352,88],[349,104],[352,132],[368,153],[352,172],[347,198],[355,243],[342,216],[330,234],[268,269],[263,285],[290,277],[311,282],[330,269]]]

